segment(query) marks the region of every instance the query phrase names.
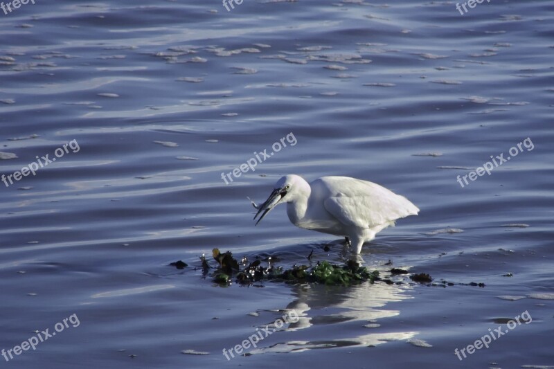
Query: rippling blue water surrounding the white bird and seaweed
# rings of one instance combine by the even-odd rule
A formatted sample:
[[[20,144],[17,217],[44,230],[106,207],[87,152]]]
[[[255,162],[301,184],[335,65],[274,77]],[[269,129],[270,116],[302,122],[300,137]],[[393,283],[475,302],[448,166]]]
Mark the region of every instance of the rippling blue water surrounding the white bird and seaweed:
[[[0,349],[79,320],[0,363],[554,366],[553,10],[37,0],[0,11],[0,172],[13,182],[0,182]],[[222,180],[282,138],[254,171]],[[501,154],[510,161],[458,183]],[[56,161],[14,179],[46,155]],[[385,277],[402,267],[456,285],[203,278],[199,256],[213,248],[285,266],[348,257],[336,237],[292,226],[284,206],[254,226],[247,197],[265,200],[289,173],[366,179],[410,199],[420,215],[361,257]],[[190,266],[168,267],[176,260]],[[469,282],[485,287],[458,285]],[[298,323],[247,356],[222,354],[287,308]],[[524,312],[533,321],[490,348],[454,354]]]

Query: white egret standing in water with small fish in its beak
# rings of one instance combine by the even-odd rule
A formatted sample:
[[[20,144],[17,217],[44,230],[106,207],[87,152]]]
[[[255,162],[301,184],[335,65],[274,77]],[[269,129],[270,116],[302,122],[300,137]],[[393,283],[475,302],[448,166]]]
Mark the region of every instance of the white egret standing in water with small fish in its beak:
[[[287,203],[287,215],[299,228],[346,237],[360,253],[364,242],[396,219],[418,215],[419,209],[406,197],[377,183],[350,177],[321,177],[307,183],[296,174],[281,177],[269,198],[260,206],[256,225],[276,205]]]

